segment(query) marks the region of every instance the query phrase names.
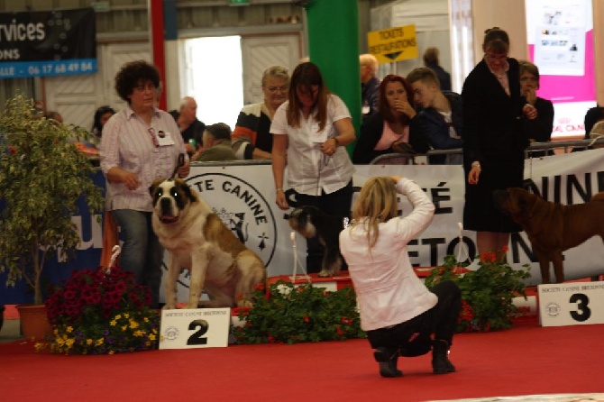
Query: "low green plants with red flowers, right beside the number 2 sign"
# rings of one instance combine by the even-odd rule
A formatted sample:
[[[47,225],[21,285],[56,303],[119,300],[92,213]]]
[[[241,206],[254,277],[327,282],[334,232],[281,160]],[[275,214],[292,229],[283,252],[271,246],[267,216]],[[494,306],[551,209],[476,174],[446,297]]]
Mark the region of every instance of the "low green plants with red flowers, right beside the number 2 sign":
[[[361,338],[352,287],[336,291],[279,280],[252,293],[252,308],[239,308],[236,343],[300,343]]]

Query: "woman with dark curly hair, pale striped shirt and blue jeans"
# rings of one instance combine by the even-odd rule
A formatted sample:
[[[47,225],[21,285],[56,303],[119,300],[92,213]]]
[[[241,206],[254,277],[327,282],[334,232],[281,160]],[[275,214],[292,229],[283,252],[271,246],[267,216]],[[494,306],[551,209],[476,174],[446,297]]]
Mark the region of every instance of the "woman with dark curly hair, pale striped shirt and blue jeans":
[[[168,178],[178,155],[187,155],[174,119],[156,107],[158,69],[144,60],[124,64],[115,76],[115,90],[128,105],[105,124],[101,139],[101,169],[107,180],[107,211],[121,229],[124,246],[120,266],[151,288],[151,303],[160,297],[163,248],[151,228],[149,187],[155,178]],[[187,177],[189,164],[177,170]]]

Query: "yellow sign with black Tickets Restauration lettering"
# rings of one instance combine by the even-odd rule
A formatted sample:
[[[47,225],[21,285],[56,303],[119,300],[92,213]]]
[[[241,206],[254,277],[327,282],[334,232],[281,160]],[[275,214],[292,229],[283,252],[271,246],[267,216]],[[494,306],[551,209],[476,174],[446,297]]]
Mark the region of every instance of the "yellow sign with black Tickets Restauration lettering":
[[[369,32],[367,42],[380,63],[417,58],[416,25]]]

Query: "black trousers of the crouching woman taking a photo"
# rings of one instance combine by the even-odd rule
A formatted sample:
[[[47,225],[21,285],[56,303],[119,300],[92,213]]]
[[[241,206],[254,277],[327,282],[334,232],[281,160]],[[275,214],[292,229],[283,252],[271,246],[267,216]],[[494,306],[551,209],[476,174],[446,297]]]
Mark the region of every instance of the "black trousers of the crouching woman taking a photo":
[[[433,333],[435,339],[452,345],[462,308],[462,292],[451,280],[444,280],[431,291],[438,297],[438,302],[425,313],[389,328],[367,331],[371,347],[399,349],[403,356],[419,356],[430,352]]]

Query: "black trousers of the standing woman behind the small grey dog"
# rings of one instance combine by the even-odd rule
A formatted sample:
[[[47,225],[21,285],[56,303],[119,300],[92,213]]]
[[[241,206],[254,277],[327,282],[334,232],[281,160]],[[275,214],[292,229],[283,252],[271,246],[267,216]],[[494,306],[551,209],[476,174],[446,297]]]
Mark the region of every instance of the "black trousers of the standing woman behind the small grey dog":
[[[297,206],[316,206],[328,215],[341,218],[351,216],[352,180],[344,187],[331,194],[321,193],[321,196],[296,195]],[[316,273],[321,270],[325,247],[319,242],[317,236],[307,239],[307,273]],[[344,263],[345,265],[345,263]],[[343,266],[345,269],[345,266]]]

